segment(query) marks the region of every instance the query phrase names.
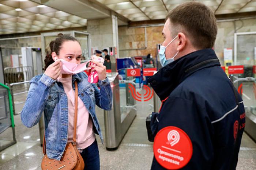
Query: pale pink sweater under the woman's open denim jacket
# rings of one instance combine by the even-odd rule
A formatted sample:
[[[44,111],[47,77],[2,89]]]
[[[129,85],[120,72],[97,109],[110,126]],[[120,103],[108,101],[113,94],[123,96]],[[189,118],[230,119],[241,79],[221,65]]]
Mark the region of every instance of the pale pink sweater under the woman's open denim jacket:
[[[75,115],[75,91],[72,89],[72,77],[58,78],[63,84],[64,91],[68,97],[68,142],[73,141],[74,115]],[[78,97],[78,119],[76,127],[77,148],[86,148],[95,140],[93,132],[93,121],[83,101]]]

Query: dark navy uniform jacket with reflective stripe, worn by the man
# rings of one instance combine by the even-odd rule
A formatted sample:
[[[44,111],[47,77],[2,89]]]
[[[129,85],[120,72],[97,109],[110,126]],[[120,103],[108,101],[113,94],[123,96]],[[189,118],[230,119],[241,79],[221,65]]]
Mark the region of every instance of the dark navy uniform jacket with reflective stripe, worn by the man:
[[[153,133],[175,126],[191,139],[193,154],[182,169],[236,169],[245,109],[215,52],[204,49],[187,54],[160,69],[148,81],[160,99],[165,100],[159,114],[153,114]],[[164,168],[154,157],[151,169]]]

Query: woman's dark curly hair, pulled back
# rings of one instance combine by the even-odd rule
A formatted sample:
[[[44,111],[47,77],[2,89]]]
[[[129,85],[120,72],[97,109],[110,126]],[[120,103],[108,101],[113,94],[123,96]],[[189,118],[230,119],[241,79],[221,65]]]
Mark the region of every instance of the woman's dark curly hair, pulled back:
[[[44,70],[46,70],[49,65],[54,63],[54,60],[52,59],[52,53],[55,52],[57,55],[59,55],[59,52],[60,52],[60,49],[61,49],[61,45],[65,41],[77,41],[78,42],[78,40],[75,39],[71,35],[61,34],[61,33],[58,34],[58,38],[56,38],[55,40],[51,41],[50,44],[49,44],[49,46],[50,46],[50,53],[48,53],[45,56],[45,59],[44,59],[44,62],[45,62]]]

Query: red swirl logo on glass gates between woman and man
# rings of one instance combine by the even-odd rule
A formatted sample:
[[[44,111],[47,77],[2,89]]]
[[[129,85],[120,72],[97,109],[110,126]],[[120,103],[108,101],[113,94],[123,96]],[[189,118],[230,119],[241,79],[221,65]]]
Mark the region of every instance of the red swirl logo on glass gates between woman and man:
[[[140,94],[139,92],[136,93],[136,90],[132,84],[129,83],[128,88],[129,88],[129,93],[132,94],[132,97],[135,100],[142,101],[142,94]],[[145,90],[145,93],[143,94],[144,101],[150,100],[154,95],[153,90],[151,90],[147,85],[143,85],[143,89]]]

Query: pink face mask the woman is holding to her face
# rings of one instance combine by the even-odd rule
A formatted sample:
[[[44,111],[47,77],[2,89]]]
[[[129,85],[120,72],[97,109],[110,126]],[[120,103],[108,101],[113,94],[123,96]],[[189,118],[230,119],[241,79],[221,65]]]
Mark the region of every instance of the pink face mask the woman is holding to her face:
[[[57,60],[57,57],[55,57],[55,61]],[[81,73],[84,70],[89,70],[90,68],[86,67],[86,64],[90,61],[87,61],[82,64],[76,64],[72,62],[65,61],[64,59],[60,59],[62,63],[61,67],[61,74],[77,74]]]

